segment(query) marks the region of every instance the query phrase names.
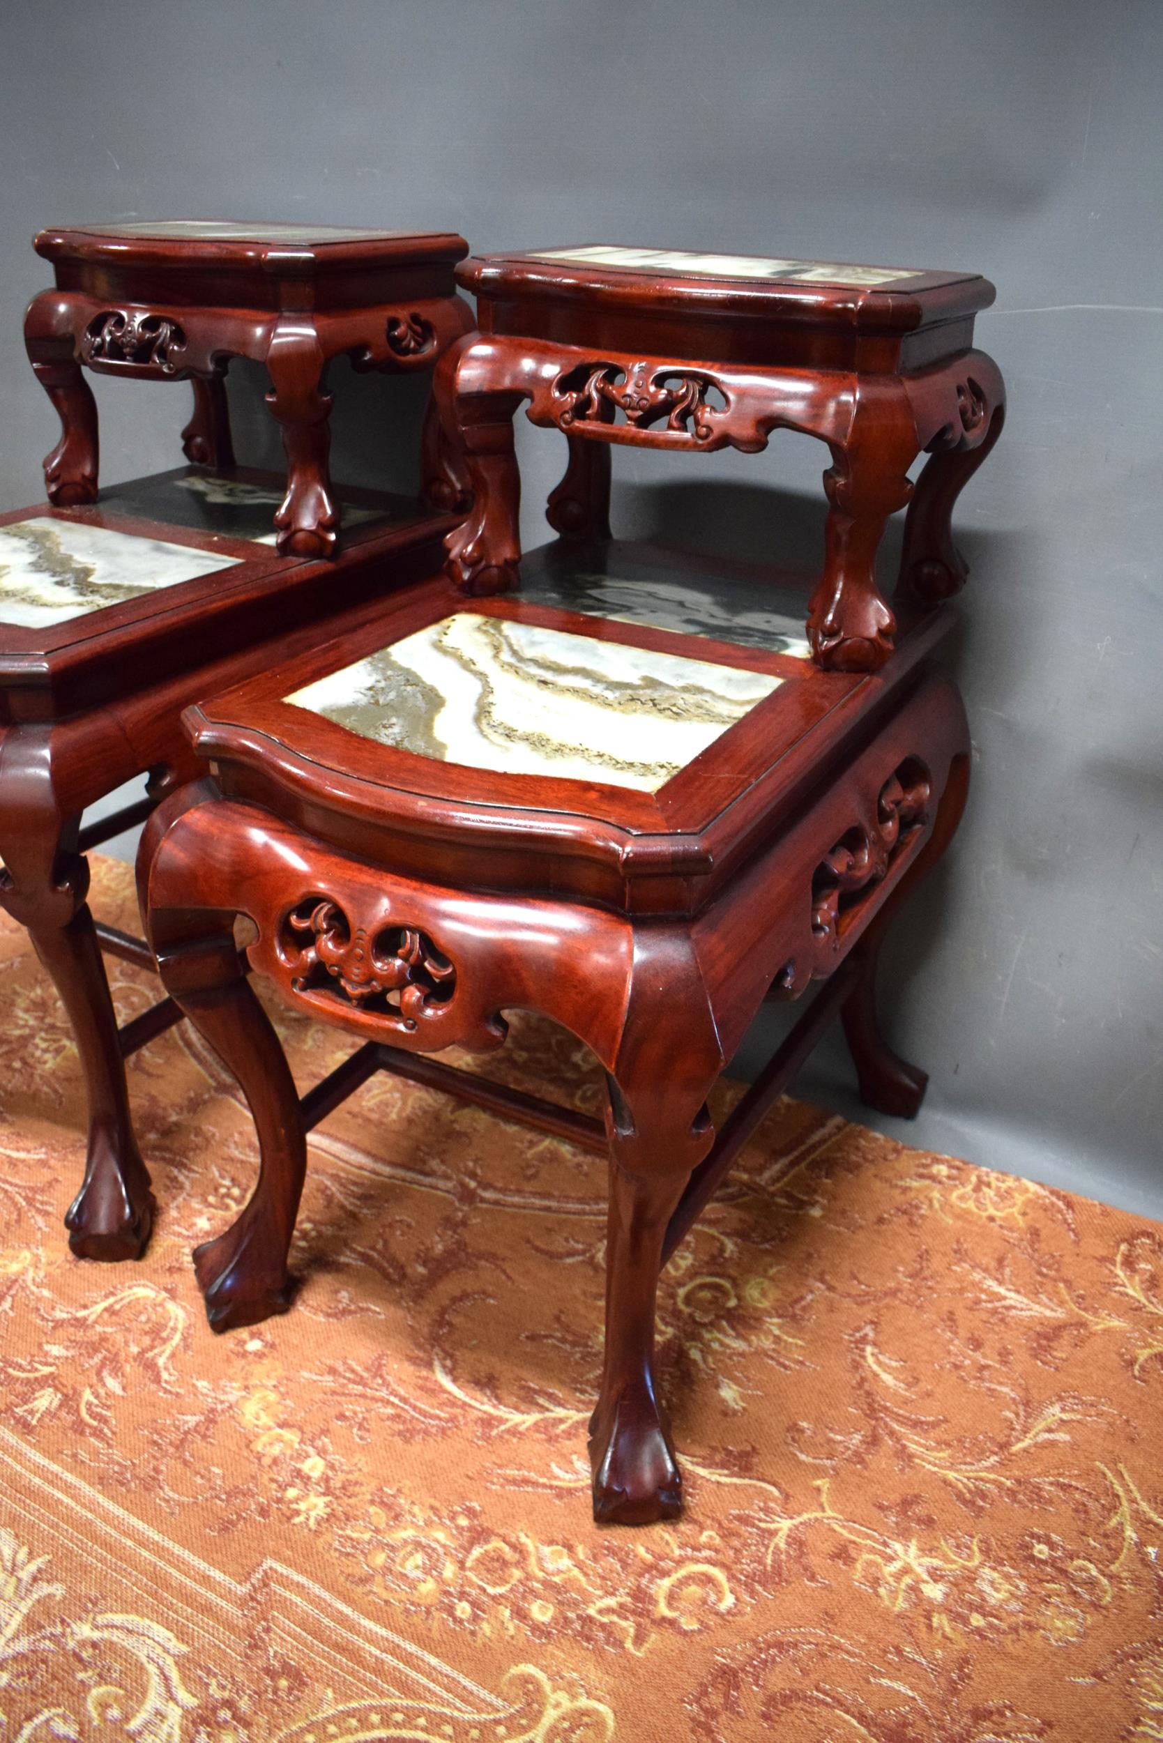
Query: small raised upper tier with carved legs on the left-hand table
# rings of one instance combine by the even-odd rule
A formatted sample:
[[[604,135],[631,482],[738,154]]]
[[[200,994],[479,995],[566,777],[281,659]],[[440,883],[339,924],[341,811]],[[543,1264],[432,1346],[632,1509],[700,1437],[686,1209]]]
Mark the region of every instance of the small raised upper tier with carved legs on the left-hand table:
[[[98,413],[84,370],[192,380],[187,458],[227,471],[223,378],[230,357],[253,357],[270,376],[288,458],[274,516],[284,556],[331,556],[338,544],[330,361],[431,370],[473,326],[453,284],[467,242],[445,232],[171,221],[42,230],[35,246],[56,274],[24,317],[30,361],[63,425],[44,464],[49,500],[98,497]]]

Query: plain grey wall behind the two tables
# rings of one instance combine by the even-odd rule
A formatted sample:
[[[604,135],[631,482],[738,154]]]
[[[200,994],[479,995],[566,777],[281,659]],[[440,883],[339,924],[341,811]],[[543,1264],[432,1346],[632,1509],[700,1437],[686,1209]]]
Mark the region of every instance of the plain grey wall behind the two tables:
[[[56,420],[21,347],[44,223],[277,218],[989,274],[1003,444],[962,497],[976,741],[898,927],[915,1128],[1163,1215],[1163,5],[1158,0],[7,0],[0,502]],[[340,371],[337,474],[405,479],[415,396]],[[275,457],[256,371],[242,458]],[[99,383],[105,478],[178,464],[188,389]],[[527,539],[563,458],[521,436]],[[617,455],[616,530],[813,558],[826,455]],[[758,1041],[748,1044],[755,1051]],[[851,1110],[839,1051],[807,1093]],[[889,1126],[889,1129],[893,1129]]]

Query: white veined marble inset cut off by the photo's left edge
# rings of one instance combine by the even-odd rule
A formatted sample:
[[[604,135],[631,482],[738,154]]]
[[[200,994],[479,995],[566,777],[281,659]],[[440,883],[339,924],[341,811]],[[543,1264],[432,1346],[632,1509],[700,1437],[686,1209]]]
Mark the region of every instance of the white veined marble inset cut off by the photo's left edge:
[[[0,622],[47,629],[239,558],[37,514],[0,526]]]

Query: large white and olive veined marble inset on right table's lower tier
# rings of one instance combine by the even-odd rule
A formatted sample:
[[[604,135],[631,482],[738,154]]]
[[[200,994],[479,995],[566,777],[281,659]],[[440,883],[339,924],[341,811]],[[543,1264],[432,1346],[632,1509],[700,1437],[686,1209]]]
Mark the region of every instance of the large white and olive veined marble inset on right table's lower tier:
[[[286,701],[439,762],[654,793],[779,683],[453,612]]]

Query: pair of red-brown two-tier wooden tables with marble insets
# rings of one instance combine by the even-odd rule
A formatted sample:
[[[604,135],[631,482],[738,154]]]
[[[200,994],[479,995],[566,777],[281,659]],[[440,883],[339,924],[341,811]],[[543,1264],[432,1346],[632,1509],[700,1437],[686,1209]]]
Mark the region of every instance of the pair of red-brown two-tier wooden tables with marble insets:
[[[464,261],[450,235],[277,227],[37,246],[58,284],[28,349],[63,439],[54,507],[0,525],[0,901],[58,983],[89,1086],[73,1250],[136,1257],[148,1239],[122,1058],[181,1014],[239,1077],[260,1140],[249,1203],[195,1253],[216,1330],[289,1306],[307,1131],[377,1070],[605,1154],[595,1518],[675,1516],[661,1267],[837,1014],[870,1105],[912,1114],[924,1093],[881,1035],[875,967],[966,797],[964,711],[931,654],[964,580],[952,505],[1004,410],[973,349],[992,286],[605,246]],[[434,366],[422,502],[333,490],[340,352]],[[284,492],[234,467],[235,354],[267,363]],[[84,368],[194,380],[197,464],[98,500]],[[530,554],[521,406],[568,446],[558,537]],[[832,460],[811,598],[774,566],[610,537],[614,446],[753,453],[779,427]],[[889,603],[875,558],[905,505]],[[105,833],[148,812],[148,945],[94,926],[84,854],[103,837],[78,826],[143,770],[150,798]],[[120,1032],[99,946],[155,962],[167,994]],[[359,1042],[303,1096],[249,971]],[[708,1091],[762,1000],[816,981],[717,1135]],[[499,1048],[514,1007],[593,1049],[602,1122],[417,1058]]]

